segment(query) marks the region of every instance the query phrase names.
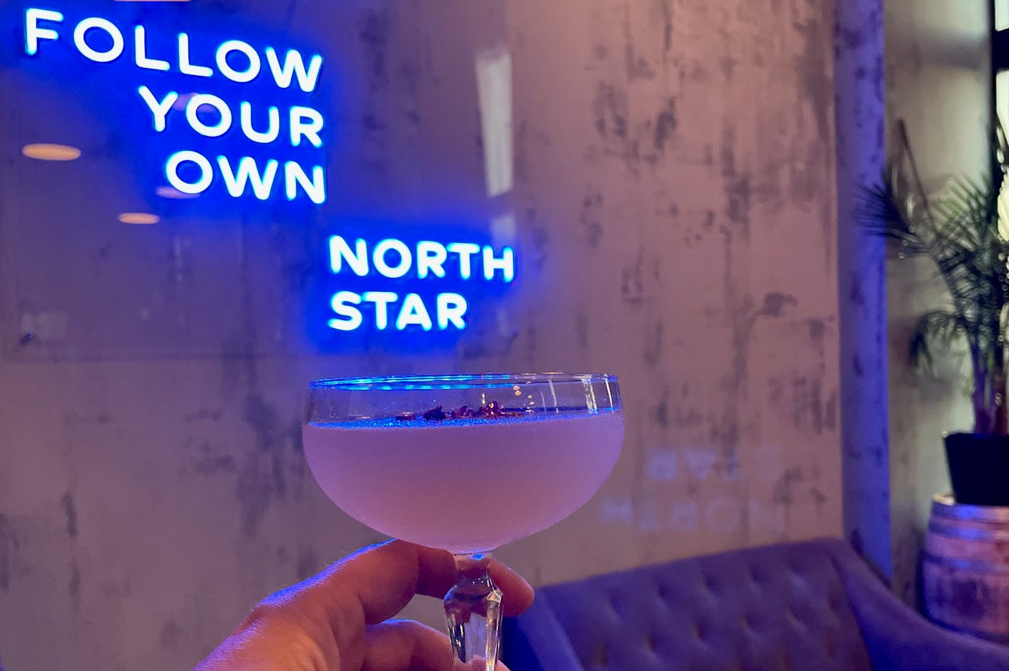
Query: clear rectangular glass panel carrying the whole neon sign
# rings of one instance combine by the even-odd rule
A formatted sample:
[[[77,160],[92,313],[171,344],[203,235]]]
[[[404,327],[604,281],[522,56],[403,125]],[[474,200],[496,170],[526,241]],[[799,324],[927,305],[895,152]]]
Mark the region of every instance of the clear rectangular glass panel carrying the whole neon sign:
[[[57,7],[0,3],[4,353],[507,346],[500,3]]]

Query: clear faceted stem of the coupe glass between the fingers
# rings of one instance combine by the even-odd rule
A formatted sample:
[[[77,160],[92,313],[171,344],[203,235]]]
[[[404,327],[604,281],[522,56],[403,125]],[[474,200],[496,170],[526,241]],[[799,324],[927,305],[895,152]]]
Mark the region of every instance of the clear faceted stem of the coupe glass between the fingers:
[[[445,620],[456,671],[494,671],[497,664],[501,591],[489,566],[489,553],[455,555],[456,581],[445,594]]]

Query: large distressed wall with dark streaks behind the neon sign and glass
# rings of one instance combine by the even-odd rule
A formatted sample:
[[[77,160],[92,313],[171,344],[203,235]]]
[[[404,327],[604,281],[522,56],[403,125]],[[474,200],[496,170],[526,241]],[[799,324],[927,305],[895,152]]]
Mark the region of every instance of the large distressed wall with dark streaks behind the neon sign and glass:
[[[75,186],[122,170],[114,124],[93,129],[100,161],[36,175],[17,151],[45,115],[18,110],[41,94],[0,72],[16,119],[0,131],[7,671],[186,668],[258,598],[376,540],[303,461],[302,389],[325,375],[619,374],[628,433],[610,480],[499,551],[536,583],[842,533],[832,3],[219,5],[235,10],[222,21],[283,26],[345,64],[333,115],[346,142],[316,218],[282,211],[267,229],[166,212],[124,227],[125,196]],[[514,189],[487,199],[473,62],[502,52]],[[69,191],[53,196],[39,180],[55,175]],[[313,231],[348,214],[416,217],[439,190],[488,229],[514,217],[522,285],[497,326],[448,351],[314,353],[307,290],[291,282],[292,267],[319,271]],[[88,271],[24,260],[39,247]],[[67,293],[101,323],[24,341],[37,315],[70,309],[46,304]],[[171,338],[117,312],[147,299]]]

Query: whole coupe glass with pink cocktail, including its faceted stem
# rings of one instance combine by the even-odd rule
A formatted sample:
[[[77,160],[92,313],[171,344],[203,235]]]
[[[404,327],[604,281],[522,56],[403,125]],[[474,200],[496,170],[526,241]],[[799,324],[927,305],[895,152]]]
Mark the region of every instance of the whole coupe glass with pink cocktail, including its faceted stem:
[[[388,536],[448,550],[456,668],[493,671],[501,592],[490,553],[560,522],[620,456],[616,378],[409,375],[309,384],[305,455],[326,494]]]

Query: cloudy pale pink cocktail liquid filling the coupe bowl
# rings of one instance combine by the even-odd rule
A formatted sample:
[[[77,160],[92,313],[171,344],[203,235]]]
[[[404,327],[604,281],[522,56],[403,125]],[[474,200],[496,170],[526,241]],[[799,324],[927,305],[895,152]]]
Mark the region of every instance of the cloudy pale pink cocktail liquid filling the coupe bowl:
[[[312,474],[345,513],[456,553],[493,550],[574,513],[605,481],[623,440],[620,411],[304,430]]]

